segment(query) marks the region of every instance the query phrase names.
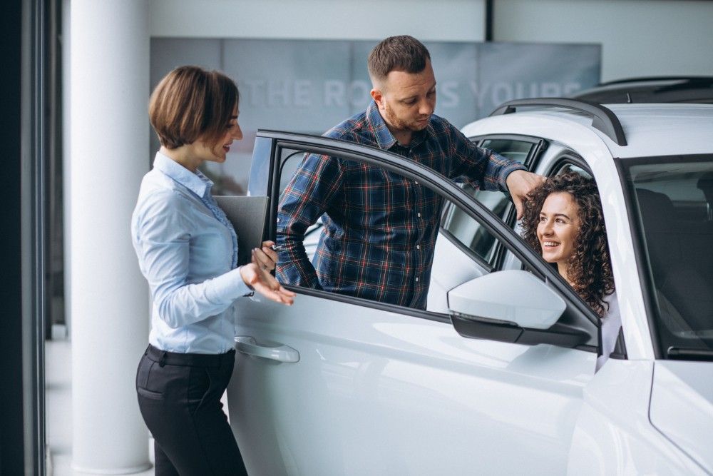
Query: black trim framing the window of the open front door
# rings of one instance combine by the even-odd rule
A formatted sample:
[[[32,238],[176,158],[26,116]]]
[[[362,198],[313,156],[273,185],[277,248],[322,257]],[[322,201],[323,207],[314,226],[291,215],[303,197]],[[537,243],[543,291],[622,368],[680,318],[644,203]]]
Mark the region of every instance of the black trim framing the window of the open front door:
[[[595,329],[592,331],[599,327],[598,319],[593,319],[593,312],[588,308],[588,305],[580,299],[573,300],[571,298],[572,291],[569,285],[550,268],[550,265],[546,263],[545,260],[535,255],[527,243],[517,236],[511,227],[504,223],[501,218],[496,216],[486,206],[473,200],[473,198],[461,190],[456,183],[441,176],[433,169],[379,148],[364,146],[349,141],[340,141],[333,138],[270,130],[257,131],[257,138],[260,137],[270,138],[272,140],[272,153],[269,160],[271,162],[270,170],[273,175],[269,181],[271,183],[268,184],[268,191],[272,194],[270,197],[270,202],[272,203],[270,206],[270,223],[275,223],[277,218],[277,203],[279,203],[279,197],[276,196],[279,192],[275,186],[272,186],[272,183],[279,183],[279,167],[274,166],[275,160],[273,159],[277,158],[277,160],[279,160],[279,151],[281,149],[302,150],[328,156],[338,155],[347,158],[347,160],[381,166],[389,171],[399,173],[406,178],[419,181],[421,185],[430,188],[432,191],[443,196],[443,198],[446,198],[446,200],[462,208],[463,211],[466,211],[468,216],[471,216],[471,218],[481,223],[481,226],[484,226],[497,240],[506,243],[508,250],[521,262],[526,263],[529,270],[535,273],[535,275],[538,275],[546,284],[555,288],[560,295],[563,295],[563,297],[566,296],[567,313],[572,315],[574,320],[585,327],[593,325]],[[275,226],[270,226],[270,238],[275,238]],[[425,310],[416,310],[405,306],[378,303],[372,300],[364,300],[347,295],[337,295],[335,293],[312,290],[301,286],[289,286],[289,288],[301,294],[315,295],[330,300],[354,303],[370,308],[390,310],[400,314],[413,315],[418,318],[438,320],[439,322],[450,320],[448,315],[429,313]],[[580,345],[577,348],[580,350],[593,350],[593,346],[589,344]]]

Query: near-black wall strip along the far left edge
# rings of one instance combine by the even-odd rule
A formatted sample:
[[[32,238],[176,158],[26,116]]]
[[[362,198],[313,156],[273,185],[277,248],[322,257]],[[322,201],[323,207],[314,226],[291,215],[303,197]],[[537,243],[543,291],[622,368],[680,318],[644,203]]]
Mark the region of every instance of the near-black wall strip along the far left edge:
[[[0,474],[24,474],[22,296],[20,274],[20,108],[22,1],[3,2],[0,15]]]

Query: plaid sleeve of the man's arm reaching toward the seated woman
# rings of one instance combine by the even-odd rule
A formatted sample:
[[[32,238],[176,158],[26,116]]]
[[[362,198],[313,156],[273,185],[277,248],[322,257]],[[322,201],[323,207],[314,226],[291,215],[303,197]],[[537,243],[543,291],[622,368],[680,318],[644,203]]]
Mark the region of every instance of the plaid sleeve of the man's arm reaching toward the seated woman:
[[[489,148],[481,148],[451,124],[451,178],[463,177],[482,190],[508,191],[506,180],[513,171],[527,170],[525,166],[505,158]]]

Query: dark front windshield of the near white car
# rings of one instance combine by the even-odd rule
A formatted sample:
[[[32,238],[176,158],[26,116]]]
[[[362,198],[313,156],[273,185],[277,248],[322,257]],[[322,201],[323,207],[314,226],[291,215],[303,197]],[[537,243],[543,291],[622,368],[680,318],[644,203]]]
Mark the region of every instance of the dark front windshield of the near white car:
[[[713,156],[624,161],[664,358],[713,356]]]

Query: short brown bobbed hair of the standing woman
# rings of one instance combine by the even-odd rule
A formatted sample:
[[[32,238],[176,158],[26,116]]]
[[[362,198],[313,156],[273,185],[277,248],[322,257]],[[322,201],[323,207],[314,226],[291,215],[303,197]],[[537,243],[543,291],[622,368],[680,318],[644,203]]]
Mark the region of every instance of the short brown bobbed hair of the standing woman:
[[[166,148],[178,148],[198,138],[213,142],[225,132],[238,100],[237,86],[225,74],[180,66],[151,93],[148,116]]]

